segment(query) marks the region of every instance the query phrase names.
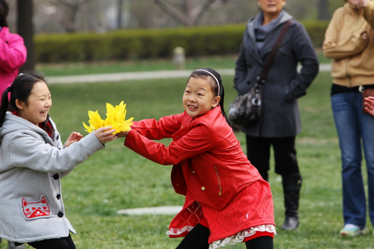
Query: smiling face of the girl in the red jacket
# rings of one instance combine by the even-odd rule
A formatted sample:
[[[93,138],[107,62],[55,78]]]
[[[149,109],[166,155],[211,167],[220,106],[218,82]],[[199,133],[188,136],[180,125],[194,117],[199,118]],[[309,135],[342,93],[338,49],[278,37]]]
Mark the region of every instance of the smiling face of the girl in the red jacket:
[[[189,77],[185,93],[183,94],[183,106],[190,117],[199,117],[216,107],[220,97],[213,93],[209,80],[204,78]]]

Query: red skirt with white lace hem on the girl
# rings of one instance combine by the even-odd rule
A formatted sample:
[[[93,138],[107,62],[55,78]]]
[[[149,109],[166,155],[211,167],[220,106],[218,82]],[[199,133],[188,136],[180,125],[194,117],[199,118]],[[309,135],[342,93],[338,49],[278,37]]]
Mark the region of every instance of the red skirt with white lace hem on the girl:
[[[265,234],[261,236],[276,234],[269,183],[261,179],[249,184],[221,211],[196,202],[187,189],[184,207],[171,222],[167,234],[171,238],[184,237],[198,223],[209,228],[211,245],[247,241],[256,233],[253,239],[262,232]]]

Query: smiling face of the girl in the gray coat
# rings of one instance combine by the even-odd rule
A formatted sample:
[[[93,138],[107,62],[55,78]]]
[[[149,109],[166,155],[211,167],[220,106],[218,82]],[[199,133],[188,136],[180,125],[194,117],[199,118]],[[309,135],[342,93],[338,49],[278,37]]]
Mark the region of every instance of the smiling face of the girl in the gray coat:
[[[47,119],[49,108],[52,105],[51,93],[47,84],[43,81],[36,82],[31,90],[27,103],[24,101],[15,101],[18,115],[31,123],[38,125]]]

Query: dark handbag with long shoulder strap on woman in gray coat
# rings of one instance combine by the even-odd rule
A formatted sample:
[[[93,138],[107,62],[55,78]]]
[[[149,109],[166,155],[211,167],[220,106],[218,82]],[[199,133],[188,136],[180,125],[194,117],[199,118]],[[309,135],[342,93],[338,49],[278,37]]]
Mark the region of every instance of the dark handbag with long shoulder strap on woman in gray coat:
[[[271,64],[273,63],[275,55],[278,52],[278,49],[284,39],[284,36],[287,33],[287,29],[290,26],[291,22],[292,19],[284,24],[277,40],[274,43],[274,47],[269,55],[269,58],[267,59],[260,75],[256,79],[254,87],[252,87],[249,92],[237,96],[234,101],[230,102],[228,119],[234,125],[252,126],[260,120],[262,113],[262,85],[265,83],[266,74],[269,71]]]

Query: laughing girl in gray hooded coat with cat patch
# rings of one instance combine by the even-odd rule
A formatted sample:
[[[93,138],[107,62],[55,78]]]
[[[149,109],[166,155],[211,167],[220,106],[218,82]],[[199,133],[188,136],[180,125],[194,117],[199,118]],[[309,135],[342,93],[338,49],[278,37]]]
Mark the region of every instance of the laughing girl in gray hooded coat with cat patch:
[[[10,101],[8,93],[10,92]],[[0,237],[33,248],[75,249],[65,216],[61,178],[114,140],[112,127],[84,138],[73,132],[62,145],[48,116],[51,94],[44,79],[21,74],[0,105]]]

